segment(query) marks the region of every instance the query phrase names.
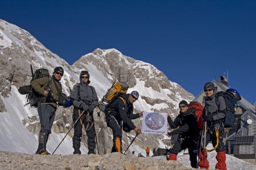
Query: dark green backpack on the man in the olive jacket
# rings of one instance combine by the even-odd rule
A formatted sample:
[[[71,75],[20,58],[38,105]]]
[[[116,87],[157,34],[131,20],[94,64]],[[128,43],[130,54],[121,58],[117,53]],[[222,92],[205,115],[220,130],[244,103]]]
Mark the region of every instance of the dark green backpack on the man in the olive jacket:
[[[32,70],[32,68],[31,68],[31,70]],[[49,71],[47,69],[44,69],[44,68],[37,69],[35,71],[35,73],[33,73],[31,82],[33,80],[36,80],[36,79],[39,79],[39,78],[42,78],[42,77],[48,77],[50,79],[50,74],[49,74]],[[44,90],[49,88],[50,84],[51,84],[51,82],[49,81],[46,84]],[[41,97],[41,95],[38,92],[36,92],[31,85],[29,85],[29,91],[26,95],[27,101],[29,101],[29,103],[26,103],[24,106],[30,104],[31,108],[37,108],[38,103],[40,102],[40,97]]]

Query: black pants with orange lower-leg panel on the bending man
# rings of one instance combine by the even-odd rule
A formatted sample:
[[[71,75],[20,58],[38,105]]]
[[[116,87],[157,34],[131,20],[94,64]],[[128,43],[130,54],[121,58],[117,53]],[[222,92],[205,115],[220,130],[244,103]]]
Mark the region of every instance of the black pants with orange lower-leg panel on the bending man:
[[[108,115],[106,116],[107,126],[112,129],[113,132],[113,147],[111,153],[122,152],[122,129],[121,121],[117,121],[115,117]]]

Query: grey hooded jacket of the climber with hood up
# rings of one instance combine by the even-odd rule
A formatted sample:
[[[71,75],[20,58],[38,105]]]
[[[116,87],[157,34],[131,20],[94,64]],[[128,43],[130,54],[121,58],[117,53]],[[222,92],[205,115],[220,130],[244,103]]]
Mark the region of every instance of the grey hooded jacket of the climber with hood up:
[[[72,93],[71,93],[73,105],[75,108],[82,108],[83,104],[88,105],[88,106],[93,105],[94,108],[96,108],[98,105],[98,97],[97,97],[95,88],[93,86],[89,86],[89,84],[90,84],[89,79],[86,84],[82,81],[82,79],[81,79],[82,73],[83,72],[81,72],[80,76],[79,76],[80,83],[73,88]],[[90,75],[88,74],[88,76],[90,76]],[[77,87],[78,86],[80,86],[80,99],[79,99],[79,96],[77,96]],[[86,100],[89,101],[90,104],[88,102],[86,102]]]

